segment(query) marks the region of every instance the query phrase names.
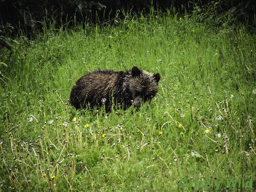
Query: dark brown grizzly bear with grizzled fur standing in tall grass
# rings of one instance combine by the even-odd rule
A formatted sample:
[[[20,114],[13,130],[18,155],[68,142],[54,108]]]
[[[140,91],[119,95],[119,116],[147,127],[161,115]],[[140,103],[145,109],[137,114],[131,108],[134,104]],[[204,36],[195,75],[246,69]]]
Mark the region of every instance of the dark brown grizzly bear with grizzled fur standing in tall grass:
[[[138,108],[156,96],[159,80],[159,73],[152,75],[138,67],[125,72],[97,70],[76,81],[69,102],[76,109],[104,106],[108,112],[112,106]]]

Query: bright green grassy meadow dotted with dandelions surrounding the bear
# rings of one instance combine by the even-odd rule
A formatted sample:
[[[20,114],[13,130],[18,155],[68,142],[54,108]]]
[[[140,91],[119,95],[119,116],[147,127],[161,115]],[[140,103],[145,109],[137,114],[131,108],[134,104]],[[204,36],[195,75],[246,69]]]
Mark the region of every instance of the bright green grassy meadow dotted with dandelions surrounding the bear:
[[[0,191],[255,190],[255,33],[165,15],[17,41],[1,54]],[[134,65],[161,74],[140,110],[67,104],[87,72]]]

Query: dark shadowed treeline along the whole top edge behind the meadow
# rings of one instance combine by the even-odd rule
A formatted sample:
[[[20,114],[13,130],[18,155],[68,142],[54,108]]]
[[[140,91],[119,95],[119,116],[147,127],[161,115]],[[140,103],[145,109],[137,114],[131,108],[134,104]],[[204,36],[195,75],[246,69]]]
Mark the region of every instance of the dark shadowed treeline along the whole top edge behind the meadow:
[[[193,13],[199,20],[215,19],[217,24],[246,22],[255,24],[255,0],[1,0],[0,35],[33,35],[43,23],[54,22],[57,27],[74,26],[77,22],[111,22],[124,17],[122,10],[148,13],[150,8],[165,12],[167,9],[182,14]]]

